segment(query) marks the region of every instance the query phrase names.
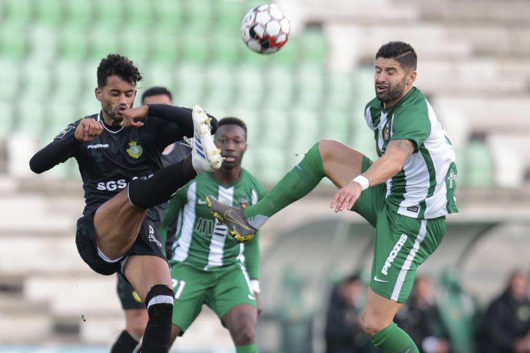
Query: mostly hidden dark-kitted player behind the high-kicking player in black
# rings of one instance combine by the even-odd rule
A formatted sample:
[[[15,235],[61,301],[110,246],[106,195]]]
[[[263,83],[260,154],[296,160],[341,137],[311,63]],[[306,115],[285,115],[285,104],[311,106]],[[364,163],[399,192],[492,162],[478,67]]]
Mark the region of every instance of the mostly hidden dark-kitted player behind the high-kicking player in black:
[[[164,87],[151,87],[141,94],[142,105],[155,103],[173,105],[171,92]],[[162,165],[167,167],[168,165],[177,163],[188,157],[190,153],[191,147],[186,141],[171,143],[162,152]],[[157,205],[157,210],[160,219],[164,219],[166,203]],[[166,239],[166,254],[168,259],[171,256],[171,245],[175,242],[176,223],[168,227],[168,233],[170,233],[168,234],[168,239]],[[170,232],[169,229],[173,229],[173,232]],[[170,237],[171,239],[169,239]],[[121,275],[117,276],[117,293],[125,314],[125,330],[120,332],[115,343],[112,344],[110,353],[131,353],[139,346],[141,336],[144,336],[144,330],[148,321],[147,310],[134,288]]]

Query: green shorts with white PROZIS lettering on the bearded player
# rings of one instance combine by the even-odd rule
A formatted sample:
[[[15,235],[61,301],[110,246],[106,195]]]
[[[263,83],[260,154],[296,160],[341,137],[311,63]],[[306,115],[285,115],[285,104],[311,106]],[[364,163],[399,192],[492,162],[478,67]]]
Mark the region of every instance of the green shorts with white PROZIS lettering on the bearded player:
[[[367,157],[362,172],[370,166]],[[370,288],[385,298],[404,303],[411,294],[416,269],[438,248],[445,234],[445,217],[414,219],[397,213],[385,202],[386,184],[361,193],[352,211],[375,227]]]

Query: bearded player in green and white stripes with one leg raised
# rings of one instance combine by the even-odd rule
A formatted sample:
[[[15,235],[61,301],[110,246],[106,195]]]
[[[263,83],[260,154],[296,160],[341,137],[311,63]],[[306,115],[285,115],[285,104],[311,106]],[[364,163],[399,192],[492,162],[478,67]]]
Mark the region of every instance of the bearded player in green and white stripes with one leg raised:
[[[361,324],[386,353],[418,353],[393,318],[411,293],[418,265],[445,233],[447,214],[457,212],[455,152],[418,88],[417,57],[407,43],[384,44],[375,55],[375,95],[365,119],[379,159],[337,141],[320,141],[262,201],[230,208],[214,196],[206,201],[235,239],[252,239],[273,214],[308,194],[327,177],[339,188],[335,212],[353,210],[375,227],[371,282]]]

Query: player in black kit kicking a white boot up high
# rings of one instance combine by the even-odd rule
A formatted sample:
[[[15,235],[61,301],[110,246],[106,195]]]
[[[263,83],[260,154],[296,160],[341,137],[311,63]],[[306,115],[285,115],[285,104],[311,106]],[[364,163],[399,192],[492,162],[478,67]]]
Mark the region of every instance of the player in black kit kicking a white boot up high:
[[[155,205],[167,201],[197,173],[222,164],[210,135],[210,118],[164,104],[132,108],[141,74],[119,54],[97,68],[95,96],[101,111],[71,123],[30,160],[41,173],[75,157],[86,205],[77,221],[76,244],[95,272],[120,272],[148,310],[142,352],[168,352],[173,290],[157,234]],[[212,119],[215,128],[217,121]],[[160,154],[174,141],[194,136],[189,158],[162,169]]]

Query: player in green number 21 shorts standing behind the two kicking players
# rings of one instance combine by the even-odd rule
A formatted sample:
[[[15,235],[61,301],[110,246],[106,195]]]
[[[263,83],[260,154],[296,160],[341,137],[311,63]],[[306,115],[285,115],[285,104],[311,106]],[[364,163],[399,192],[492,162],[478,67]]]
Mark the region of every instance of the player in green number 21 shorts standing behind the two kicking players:
[[[206,205],[214,194],[227,205],[253,205],[265,188],[241,167],[246,151],[246,125],[237,118],[219,121],[215,144],[224,162],[219,170],[204,173],[186,184],[168,203],[160,234],[177,220],[170,256],[175,292],[170,342],[184,334],[201,311],[210,307],[230,331],[237,353],[254,353],[259,307],[259,237],[246,244],[228,236]]]

